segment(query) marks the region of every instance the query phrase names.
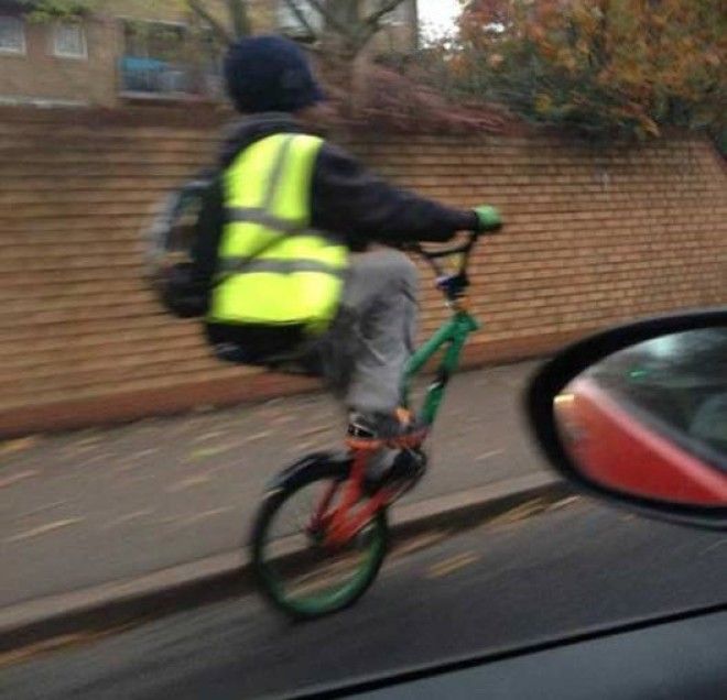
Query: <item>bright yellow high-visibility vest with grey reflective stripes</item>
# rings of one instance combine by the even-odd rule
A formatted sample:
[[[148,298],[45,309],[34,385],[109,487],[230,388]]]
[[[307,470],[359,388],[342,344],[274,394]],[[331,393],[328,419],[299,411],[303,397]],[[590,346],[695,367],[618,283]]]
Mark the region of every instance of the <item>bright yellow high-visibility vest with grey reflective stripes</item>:
[[[208,320],[324,329],[338,308],[348,250],[311,230],[313,168],[323,141],[268,136],[224,175],[225,228]]]

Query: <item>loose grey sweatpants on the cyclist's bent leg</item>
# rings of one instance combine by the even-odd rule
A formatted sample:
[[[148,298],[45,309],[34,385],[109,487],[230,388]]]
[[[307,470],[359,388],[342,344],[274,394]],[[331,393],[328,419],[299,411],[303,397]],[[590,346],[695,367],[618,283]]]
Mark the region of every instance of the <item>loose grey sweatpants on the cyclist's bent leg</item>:
[[[416,335],[417,274],[390,249],[351,256],[341,306],[317,354],[334,393],[351,411],[391,413]]]

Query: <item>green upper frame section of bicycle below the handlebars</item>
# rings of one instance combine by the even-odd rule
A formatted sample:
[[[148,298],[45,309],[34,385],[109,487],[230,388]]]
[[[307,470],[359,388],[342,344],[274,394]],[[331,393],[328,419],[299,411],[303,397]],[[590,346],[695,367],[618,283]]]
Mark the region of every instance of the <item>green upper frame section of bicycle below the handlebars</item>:
[[[469,335],[479,328],[479,322],[470,316],[469,313],[462,309],[455,310],[452,318],[446,321],[442,328],[430,338],[430,340],[419,348],[409,361],[402,387],[405,406],[409,406],[412,380],[441,348],[446,347],[436,378],[427,387],[424,405],[422,411],[417,414],[425,425],[432,425],[434,423],[442,400],[444,398],[444,392],[449,378],[457,371],[459,365],[462,349],[464,348],[465,342],[467,342]]]

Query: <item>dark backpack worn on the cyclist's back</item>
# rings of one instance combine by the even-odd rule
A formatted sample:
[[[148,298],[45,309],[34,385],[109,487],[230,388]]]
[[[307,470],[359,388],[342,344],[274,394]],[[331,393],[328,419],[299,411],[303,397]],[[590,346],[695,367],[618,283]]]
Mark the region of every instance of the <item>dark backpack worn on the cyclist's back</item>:
[[[205,171],[167,195],[147,234],[147,280],[165,310],[177,318],[200,318],[207,311],[208,291],[195,275],[193,250],[215,176]]]

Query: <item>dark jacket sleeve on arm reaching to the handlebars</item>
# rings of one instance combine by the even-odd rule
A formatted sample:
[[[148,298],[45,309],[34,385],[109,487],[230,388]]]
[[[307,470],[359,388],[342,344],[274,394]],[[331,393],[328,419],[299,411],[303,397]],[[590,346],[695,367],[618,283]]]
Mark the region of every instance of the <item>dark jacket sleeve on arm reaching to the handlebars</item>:
[[[452,209],[392,187],[327,143],[313,177],[312,223],[344,236],[352,248],[369,242],[446,241],[457,231],[479,226],[474,211]]]

